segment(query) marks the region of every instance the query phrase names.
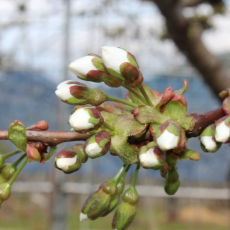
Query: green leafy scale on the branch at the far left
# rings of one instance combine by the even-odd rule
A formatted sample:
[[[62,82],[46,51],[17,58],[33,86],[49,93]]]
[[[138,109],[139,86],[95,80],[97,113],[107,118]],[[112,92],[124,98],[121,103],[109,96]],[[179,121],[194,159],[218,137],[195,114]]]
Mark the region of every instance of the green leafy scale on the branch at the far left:
[[[21,151],[26,151],[26,128],[22,122],[15,120],[8,129],[8,139]]]

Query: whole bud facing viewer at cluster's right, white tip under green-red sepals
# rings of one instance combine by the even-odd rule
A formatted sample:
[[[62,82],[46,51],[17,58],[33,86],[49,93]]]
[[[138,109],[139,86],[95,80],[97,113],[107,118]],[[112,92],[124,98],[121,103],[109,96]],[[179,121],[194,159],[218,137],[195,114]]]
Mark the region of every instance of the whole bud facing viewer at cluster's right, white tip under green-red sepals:
[[[170,150],[180,147],[182,141],[182,128],[172,122],[162,124],[155,133],[155,138],[161,150]],[[183,148],[185,143],[183,143]]]

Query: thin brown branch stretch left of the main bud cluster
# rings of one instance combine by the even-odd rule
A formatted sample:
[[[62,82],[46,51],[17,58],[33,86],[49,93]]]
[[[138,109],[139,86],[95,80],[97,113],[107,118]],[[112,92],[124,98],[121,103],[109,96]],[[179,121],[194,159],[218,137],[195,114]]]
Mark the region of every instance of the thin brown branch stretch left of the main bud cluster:
[[[80,134],[72,131],[26,131],[28,141],[41,141],[50,146],[58,145],[62,142],[82,141],[90,137],[89,134]],[[0,130],[0,140],[8,139],[8,131]]]

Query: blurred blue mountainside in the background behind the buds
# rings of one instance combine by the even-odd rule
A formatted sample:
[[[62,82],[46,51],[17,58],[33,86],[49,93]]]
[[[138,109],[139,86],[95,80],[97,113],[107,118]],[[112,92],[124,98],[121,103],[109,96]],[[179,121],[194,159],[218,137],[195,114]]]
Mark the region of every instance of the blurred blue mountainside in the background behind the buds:
[[[182,80],[182,77],[158,76],[145,83],[150,88],[163,92],[167,86],[171,86],[174,90],[180,89],[183,85]],[[189,112],[201,113],[220,106],[218,100],[201,79],[190,77],[188,80],[190,86],[184,96],[188,101]],[[50,129],[55,130],[57,106],[60,103],[60,100],[54,94],[55,89],[56,84],[39,73],[0,73],[0,129],[7,129],[8,125],[15,119],[21,120],[26,126],[44,119],[49,122]],[[124,91],[119,89],[108,89],[106,87],[104,89],[112,96],[120,97],[124,94]],[[69,111],[71,108],[72,106],[66,105],[66,109]],[[67,121],[63,122],[67,124]],[[71,145],[69,144],[69,146]],[[182,179],[225,181],[230,165],[229,147],[223,145],[217,153],[204,153],[196,138],[189,141],[188,147],[200,152],[201,160],[199,162],[179,162]],[[47,162],[45,165],[31,163],[26,169],[34,172],[41,169],[48,170],[51,164],[52,162]],[[111,174],[115,173],[122,163],[118,157],[107,154],[93,160],[93,164],[96,164],[97,173]],[[88,170],[88,167],[83,166],[78,173],[84,173],[85,170]],[[143,172],[143,170],[141,171]],[[147,170],[146,172],[151,176],[159,177],[159,173],[153,170]]]

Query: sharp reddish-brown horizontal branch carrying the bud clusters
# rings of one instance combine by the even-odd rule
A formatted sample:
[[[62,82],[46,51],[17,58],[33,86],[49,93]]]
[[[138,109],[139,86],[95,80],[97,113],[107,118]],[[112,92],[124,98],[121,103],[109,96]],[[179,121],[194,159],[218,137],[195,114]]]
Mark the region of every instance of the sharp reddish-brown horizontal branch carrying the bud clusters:
[[[195,118],[194,129],[187,132],[188,137],[197,137],[208,126],[213,124],[219,118],[225,116],[222,108],[209,111],[204,114],[191,113],[189,116]],[[80,134],[73,131],[26,131],[28,141],[41,141],[50,146],[58,145],[63,142],[84,141],[90,137],[89,134]],[[8,131],[0,130],[0,140],[8,139]],[[139,141],[151,139],[149,132],[142,136]]]

